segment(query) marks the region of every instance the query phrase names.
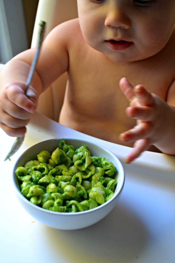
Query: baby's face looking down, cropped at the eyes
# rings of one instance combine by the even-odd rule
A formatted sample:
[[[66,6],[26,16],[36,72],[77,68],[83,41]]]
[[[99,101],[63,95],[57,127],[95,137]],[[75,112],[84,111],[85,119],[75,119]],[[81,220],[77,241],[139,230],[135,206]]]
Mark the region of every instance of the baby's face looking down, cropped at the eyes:
[[[88,44],[115,62],[155,55],[175,24],[175,0],[77,0]]]

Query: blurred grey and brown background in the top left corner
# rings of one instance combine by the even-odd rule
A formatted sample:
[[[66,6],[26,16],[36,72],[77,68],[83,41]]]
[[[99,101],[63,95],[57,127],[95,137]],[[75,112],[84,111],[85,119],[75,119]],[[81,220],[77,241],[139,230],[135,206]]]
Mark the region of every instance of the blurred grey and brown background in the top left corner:
[[[30,48],[38,2],[0,0],[0,62]]]

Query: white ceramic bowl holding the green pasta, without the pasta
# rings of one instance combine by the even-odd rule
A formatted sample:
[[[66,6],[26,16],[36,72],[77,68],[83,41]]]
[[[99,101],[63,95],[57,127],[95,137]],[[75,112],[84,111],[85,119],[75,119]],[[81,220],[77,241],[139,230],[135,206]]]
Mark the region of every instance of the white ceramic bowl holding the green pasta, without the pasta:
[[[42,141],[37,143],[24,151],[24,153],[17,160],[14,169],[13,169],[13,184],[15,188],[15,192],[17,194],[17,198],[23,208],[30,214],[34,219],[47,225],[49,227],[53,227],[56,229],[80,229],[83,227],[90,226],[95,224],[104,218],[110,211],[114,208],[117,201],[120,198],[122,193],[122,189],[125,182],[125,173],[119,159],[107,148],[101,146],[99,144],[91,143],[90,141],[85,141],[81,139],[71,139],[65,138],[67,144],[74,145],[75,148],[79,148],[81,145],[86,145],[91,152],[92,156],[98,157],[106,157],[106,160],[112,161],[115,165],[118,173],[116,174],[117,186],[115,189],[115,193],[110,200],[106,203],[93,208],[91,210],[86,210],[83,212],[76,213],[59,213],[50,210],[43,209],[37,205],[32,204],[29,200],[27,200],[20,192],[19,181],[15,174],[16,169],[19,166],[24,166],[27,161],[36,160],[37,154],[42,150],[48,150],[53,152],[53,150],[58,147],[59,141],[58,139],[50,139],[46,141]]]

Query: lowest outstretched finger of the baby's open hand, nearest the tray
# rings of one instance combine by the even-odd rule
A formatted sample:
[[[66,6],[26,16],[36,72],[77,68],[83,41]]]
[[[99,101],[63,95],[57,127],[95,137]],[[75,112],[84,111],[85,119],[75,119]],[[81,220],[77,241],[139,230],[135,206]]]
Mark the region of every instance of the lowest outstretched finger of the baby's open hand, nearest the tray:
[[[145,139],[140,139],[138,141],[135,142],[133,150],[131,151],[131,153],[125,158],[125,162],[126,163],[131,163],[133,160],[135,160],[138,156],[140,156],[140,154],[147,150],[148,146],[149,146],[149,139],[145,138]]]

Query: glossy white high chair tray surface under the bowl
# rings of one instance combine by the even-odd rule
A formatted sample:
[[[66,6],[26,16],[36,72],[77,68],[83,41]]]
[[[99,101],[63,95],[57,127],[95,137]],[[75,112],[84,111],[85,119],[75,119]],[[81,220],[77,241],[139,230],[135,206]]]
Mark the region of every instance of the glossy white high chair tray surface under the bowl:
[[[1,263],[174,263],[175,157],[146,151],[132,164],[131,150],[66,128],[38,113],[24,143],[4,162],[14,138],[0,129]],[[25,212],[16,199],[12,170],[22,152],[40,141],[73,137],[98,142],[121,160],[125,186],[115,208],[100,222],[79,230],[47,227]]]

